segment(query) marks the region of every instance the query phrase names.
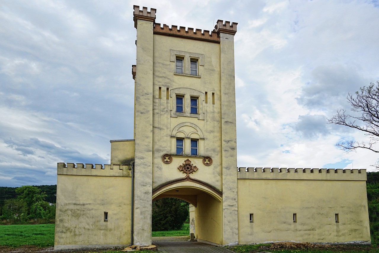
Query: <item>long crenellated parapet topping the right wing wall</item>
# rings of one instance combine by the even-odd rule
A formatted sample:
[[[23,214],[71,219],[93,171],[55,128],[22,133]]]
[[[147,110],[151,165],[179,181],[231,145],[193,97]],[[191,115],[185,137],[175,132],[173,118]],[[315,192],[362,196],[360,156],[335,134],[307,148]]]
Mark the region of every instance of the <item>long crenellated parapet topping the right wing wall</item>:
[[[238,168],[238,179],[301,179],[366,181],[366,169]]]

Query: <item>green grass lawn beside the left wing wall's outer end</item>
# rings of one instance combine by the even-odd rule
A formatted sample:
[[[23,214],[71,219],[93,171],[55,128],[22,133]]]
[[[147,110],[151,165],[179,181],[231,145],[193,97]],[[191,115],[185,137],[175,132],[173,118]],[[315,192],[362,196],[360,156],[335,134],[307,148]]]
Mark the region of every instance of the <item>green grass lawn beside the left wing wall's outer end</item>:
[[[10,247],[54,246],[54,228],[55,224],[2,225],[0,226],[0,245]]]

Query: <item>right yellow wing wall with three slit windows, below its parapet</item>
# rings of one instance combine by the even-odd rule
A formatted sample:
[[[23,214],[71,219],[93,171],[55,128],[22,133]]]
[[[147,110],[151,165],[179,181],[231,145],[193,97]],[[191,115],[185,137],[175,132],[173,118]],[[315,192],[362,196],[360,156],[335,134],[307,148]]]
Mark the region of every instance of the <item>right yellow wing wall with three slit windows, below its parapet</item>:
[[[238,179],[238,227],[240,244],[370,242],[366,182]]]

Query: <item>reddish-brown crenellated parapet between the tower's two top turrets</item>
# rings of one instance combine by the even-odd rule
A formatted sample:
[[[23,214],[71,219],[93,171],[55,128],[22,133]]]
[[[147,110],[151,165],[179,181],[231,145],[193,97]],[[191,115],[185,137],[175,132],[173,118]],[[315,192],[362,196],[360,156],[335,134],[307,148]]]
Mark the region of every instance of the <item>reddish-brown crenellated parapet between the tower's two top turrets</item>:
[[[163,24],[155,23],[154,25],[154,34],[160,34],[160,35],[166,35],[166,36],[176,36],[180,38],[189,38],[189,39],[195,39],[195,40],[204,40],[204,41],[212,41],[215,43],[220,42],[220,38],[217,36],[217,32],[215,31],[208,31],[201,29],[194,29],[191,27],[188,27],[186,30],[186,27],[180,26],[178,28],[177,25],[171,25],[171,28]]]

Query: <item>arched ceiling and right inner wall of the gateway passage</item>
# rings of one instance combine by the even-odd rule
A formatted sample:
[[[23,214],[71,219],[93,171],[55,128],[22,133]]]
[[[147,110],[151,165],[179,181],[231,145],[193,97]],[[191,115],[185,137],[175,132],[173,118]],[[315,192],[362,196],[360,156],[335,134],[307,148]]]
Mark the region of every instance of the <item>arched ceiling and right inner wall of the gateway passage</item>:
[[[167,183],[153,191],[152,200],[178,198],[189,202],[190,233],[198,242],[222,245],[222,194],[198,182]]]

